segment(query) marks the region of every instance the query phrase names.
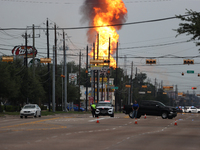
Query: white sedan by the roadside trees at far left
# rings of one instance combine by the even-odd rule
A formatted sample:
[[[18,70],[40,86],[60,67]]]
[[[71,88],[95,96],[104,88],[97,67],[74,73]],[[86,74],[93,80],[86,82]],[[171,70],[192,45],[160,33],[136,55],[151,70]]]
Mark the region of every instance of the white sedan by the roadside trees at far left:
[[[20,111],[20,118],[27,116],[41,117],[41,109],[37,104],[26,104]]]

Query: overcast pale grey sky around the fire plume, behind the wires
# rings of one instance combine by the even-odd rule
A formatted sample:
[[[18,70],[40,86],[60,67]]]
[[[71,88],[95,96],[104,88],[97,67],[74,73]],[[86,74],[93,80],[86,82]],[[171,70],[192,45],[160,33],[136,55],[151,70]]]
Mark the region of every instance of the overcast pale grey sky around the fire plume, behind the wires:
[[[84,0],[0,0],[0,27],[1,28],[30,28],[33,24],[45,28],[48,18],[50,28],[54,23],[62,28],[88,26],[81,24],[80,7]],[[184,15],[186,9],[200,12],[200,0],[123,0],[128,10],[127,23],[147,21]],[[138,72],[147,73],[151,82],[163,81],[163,85],[177,85],[178,91],[190,91],[191,87],[197,87],[196,93],[200,94],[200,59],[194,58],[200,55],[193,42],[179,44],[169,44],[182,42],[190,37],[186,35],[175,37],[177,33],[173,29],[179,27],[179,19],[170,19],[160,22],[150,22],[143,24],[125,25],[119,34],[119,67],[126,68],[130,75],[131,62],[134,63],[134,73],[136,67]],[[46,35],[45,30],[36,30],[37,57],[46,57]],[[58,32],[58,45],[62,46],[61,33]],[[11,55],[11,50],[15,45],[24,44],[21,36],[25,31],[20,30],[0,30],[0,55]],[[69,39],[66,41],[69,46],[68,54],[81,52],[85,54],[87,43],[87,29],[65,30]],[[32,34],[28,30],[28,34]],[[158,45],[164,46],[158,46]],[[32,39],[28,39],[28,45],[32,45]],[[50,49],[54,45],[54,31],[50,31]],[[157,46],[152,46],[157,45]],[[91,45],[89,45],[91,48]],[[60,51],[59,54],[63,52]],[[124,57],[127,57],[126,63]],[[161,58],[161,57],[164,58]],[[177,57],[194,58],[195,65],[182,65],[183,59]],[[51,55],[52,57],[52,55]],[[144,57],[144,58],[135,58]],[[157,64],[145,65],[145,57],[157,57]],[[77,56],[69,56],[68,61],[78,60]],[[58,56],[62,61],[62,55]],[[82,59],[82,67],[85,67],[85,58]],[[187,74],[187,70],[194,70],[194,74]],[[182,76],[181,73],[185,75]]]

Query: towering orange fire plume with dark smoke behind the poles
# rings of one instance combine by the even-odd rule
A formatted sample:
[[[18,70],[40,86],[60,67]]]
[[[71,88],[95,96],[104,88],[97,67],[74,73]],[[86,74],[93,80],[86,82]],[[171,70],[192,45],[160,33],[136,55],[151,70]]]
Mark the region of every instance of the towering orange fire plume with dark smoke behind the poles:
[[[97,26],[89,29],[87,32],[88,42],[95,42],[95,59],[109,59],[109,39],[110,54],[116,52],[116,46],[119,39],[117,30],[121,29],[126,21],[127,9],[122,0],[85,0],[82,6],[83,18],[88,19],[90,26]],[[84,20],[85,21],[85,20]],[[117,24],[117,26],[112,26]],[[99,34],[99,36],[97,36]],[[89,53],[93,57],[94,48]],[[116,68],[116,61],[110,55],[110,66]]]

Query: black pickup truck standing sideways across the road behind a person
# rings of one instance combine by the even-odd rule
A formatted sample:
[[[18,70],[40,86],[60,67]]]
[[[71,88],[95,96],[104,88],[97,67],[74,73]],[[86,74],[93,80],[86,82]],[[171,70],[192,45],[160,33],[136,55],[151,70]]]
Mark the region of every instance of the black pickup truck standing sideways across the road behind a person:
[[[132,118],[132,105],[125,105],[123,112]],[[161,116],[163,119],[172,119],[177,116],[176,108],[166,106],[159,101],[143,100],[139,103],[137,118],[141,115]]]

